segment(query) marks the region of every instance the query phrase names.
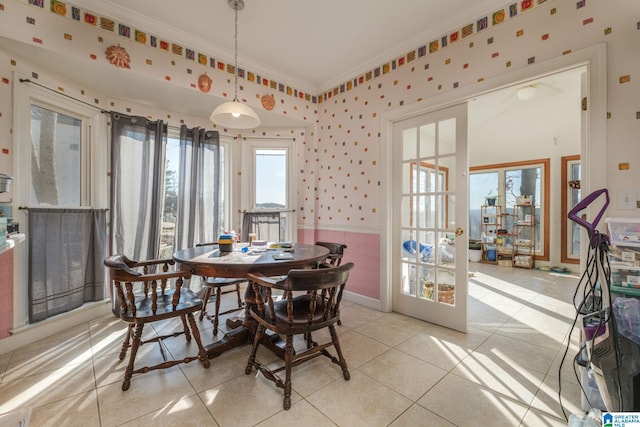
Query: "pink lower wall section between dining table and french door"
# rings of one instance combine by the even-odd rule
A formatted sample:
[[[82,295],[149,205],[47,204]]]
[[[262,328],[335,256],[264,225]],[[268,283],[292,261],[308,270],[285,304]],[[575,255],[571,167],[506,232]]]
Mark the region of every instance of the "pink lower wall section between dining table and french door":
[[[346,289],[380,299],[380,236],[346,231],[298,230],[300,243],[335,242],[347,245],[344,262],[353,262]]]

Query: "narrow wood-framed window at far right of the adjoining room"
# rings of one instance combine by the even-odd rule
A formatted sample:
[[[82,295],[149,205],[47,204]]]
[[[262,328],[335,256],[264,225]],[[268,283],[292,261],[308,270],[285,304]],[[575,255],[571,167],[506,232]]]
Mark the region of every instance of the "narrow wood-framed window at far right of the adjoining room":
[[[566,156],[562,161],[562,177],[560,194],[562,198],[562,262],[580,263],[580,225],[567,218],[567,214],[580,202],[580,156]]]

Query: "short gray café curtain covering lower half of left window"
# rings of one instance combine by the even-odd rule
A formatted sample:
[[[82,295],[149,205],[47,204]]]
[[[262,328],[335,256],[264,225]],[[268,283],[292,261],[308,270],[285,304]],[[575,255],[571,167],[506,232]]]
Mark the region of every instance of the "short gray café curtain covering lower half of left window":
[[[105,298],[106,210],[29,208],[29,323]]]

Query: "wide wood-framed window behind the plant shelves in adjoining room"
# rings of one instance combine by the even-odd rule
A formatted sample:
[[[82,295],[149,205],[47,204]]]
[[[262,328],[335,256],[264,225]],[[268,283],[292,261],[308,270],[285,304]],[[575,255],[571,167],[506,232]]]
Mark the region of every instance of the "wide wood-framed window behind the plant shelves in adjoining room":
[[[469,238],[480,239],[480,206],[497,197],[503,211],[513,212],[519,196],[532,196],[536,207],[536,254],[549,258],[549,159],[505,163],[470,168]]]

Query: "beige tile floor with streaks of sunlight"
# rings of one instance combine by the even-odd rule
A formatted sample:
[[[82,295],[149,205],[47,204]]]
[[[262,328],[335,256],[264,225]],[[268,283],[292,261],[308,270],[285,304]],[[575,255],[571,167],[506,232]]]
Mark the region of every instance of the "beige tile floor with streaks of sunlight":
[[[196,361],[134,376],[123,392],[125,324],[105,317],[0,355],[0,425],[24,414],[32,427],[566,426],[558,368],[578,279],[476,263],[470,270],[467,334],[345,302],[338,330],[351,380],[326,358],[299,366],[289,411],[280,389],[244,374],[248,346],[208,370]],[[206,319],[201,333],[214,340]],[[171,352],[185,350],[182,338],[170,341]],[[141,352],[160,357],[156,346]],[[581,412],[570,362],[560,385],[567,416]]]

